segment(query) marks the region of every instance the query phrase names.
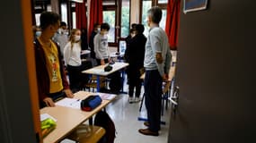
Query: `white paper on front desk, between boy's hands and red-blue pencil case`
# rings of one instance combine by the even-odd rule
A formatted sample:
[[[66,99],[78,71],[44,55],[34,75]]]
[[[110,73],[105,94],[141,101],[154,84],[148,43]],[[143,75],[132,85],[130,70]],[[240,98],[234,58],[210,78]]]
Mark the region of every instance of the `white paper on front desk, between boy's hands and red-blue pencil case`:
[[[80,109],[81,108],[81,100],[65,97],[62,100],[57,101],[56,105]]]

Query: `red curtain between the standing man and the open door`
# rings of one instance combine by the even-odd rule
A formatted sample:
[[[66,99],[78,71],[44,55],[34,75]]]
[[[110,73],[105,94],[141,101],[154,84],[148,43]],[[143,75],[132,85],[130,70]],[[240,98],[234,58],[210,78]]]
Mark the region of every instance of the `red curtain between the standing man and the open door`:
[[[165,31],[171,50],[177,50],[181,0],[168,0]]]

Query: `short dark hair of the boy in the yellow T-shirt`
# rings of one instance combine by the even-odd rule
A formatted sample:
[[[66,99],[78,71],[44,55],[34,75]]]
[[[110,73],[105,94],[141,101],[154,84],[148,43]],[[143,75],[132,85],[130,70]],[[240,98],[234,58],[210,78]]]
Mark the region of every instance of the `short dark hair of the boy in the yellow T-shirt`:
[[[59,21],[59,16],[57,13],[53,12],[43,12],[40,15],[40,28],[46,29],[49,25],[54,25]]]

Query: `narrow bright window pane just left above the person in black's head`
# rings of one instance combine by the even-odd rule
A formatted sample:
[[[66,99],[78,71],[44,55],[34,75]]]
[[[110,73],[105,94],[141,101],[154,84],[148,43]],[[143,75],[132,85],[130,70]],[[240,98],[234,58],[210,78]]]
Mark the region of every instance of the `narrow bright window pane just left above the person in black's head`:
[[[128,37],[129,34],[129,0],[122,0],[121,6],[121,38]]]

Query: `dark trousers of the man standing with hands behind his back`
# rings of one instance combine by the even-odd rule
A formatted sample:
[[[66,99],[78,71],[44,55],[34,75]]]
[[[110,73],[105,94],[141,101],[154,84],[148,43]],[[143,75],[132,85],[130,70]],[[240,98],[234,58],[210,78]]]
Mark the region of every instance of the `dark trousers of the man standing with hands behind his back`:
[[[145,104],[149,130],[160,130],[162,107],[162,77],[158,70],[146,71],[145,75]]]

